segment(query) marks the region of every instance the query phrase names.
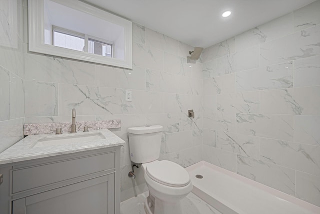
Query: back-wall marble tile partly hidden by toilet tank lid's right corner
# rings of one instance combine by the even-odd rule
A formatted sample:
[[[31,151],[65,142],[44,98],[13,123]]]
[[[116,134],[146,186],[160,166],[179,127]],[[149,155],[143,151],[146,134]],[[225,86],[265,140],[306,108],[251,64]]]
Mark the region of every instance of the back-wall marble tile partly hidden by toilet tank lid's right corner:
[[[146,114],[146,125],[163,126],[162,133],[173,133],[180,130],[179,113],[172,114]]]

